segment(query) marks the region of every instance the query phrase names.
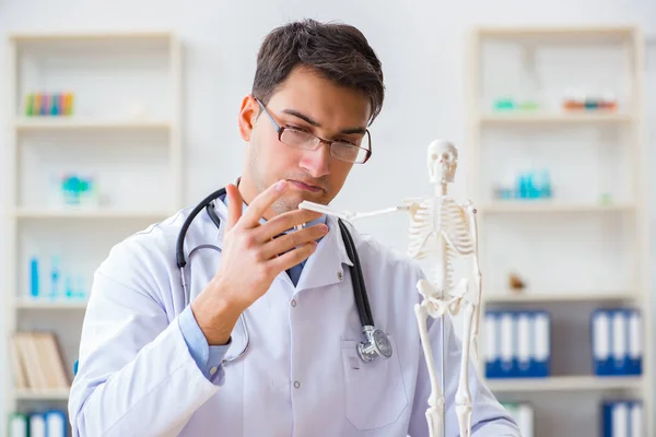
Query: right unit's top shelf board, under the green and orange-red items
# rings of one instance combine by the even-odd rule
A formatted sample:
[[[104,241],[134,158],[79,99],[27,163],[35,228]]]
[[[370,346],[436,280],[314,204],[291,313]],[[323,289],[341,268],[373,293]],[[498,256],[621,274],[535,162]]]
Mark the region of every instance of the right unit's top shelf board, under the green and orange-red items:
[[[505,123],[617,123],[633,120],[631,114],[622,113],[594,113],[594,111],[572,111],[572,113],[540,113],[540,111],[508,111],[485,114],[479,118],[481,123],[505,125]]]

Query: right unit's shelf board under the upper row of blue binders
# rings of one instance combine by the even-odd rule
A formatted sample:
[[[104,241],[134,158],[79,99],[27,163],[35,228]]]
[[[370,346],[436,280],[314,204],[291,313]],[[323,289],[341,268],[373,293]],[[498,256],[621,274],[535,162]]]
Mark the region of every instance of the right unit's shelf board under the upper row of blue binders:
[[[644,380],[640,376],[595,377],[557,376],[550,378],[487,379],[492,392],[536,392],[536,391],[595,391],[641,389]]]

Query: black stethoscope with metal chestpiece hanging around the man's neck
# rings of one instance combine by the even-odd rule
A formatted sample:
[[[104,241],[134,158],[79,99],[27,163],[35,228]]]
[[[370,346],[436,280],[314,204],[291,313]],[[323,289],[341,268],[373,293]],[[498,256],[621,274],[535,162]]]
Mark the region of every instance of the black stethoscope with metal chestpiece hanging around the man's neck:
[[[189,304],[190,299],[189,288],[187,286],[187,280],[185,277],[185,265],[187,264],[184,252],[185,236],[187,235],[187,231],[189,229],[189,226],[191,225],[194,218],[203,209],[207,211],[208,215],[210,216],[210,220],[214,223],[216,228],[219,229],[221,227],[221,218],[219,218],[216,212],[214,211],[214,201],[224,197],[225,193],[225,188],[221,188],[220,190],[216,190],[207,198],[204,198],[198,205],[196,205],[196,208],[194,208],[194,210],[191,210],[189,216],[187,217],[187,220],[185,220],[185,223],[183,223],[183,227],[178,234],[175,249],[175,258],[177,267],[180,270],[180,282],[183,285],[183,293],[185,295],[185,306]],[[349,258],[351,258],[351,260],[353,261],[353,265],[350,265],[349,270],[351,272],[351,282],[353,284],[353,297],[355,299],[355,306],[358,308],[358,315],[360,316],[360,323],[362,324],[362,332],[365,339],[363,342],[358,343],[358,355],[365,363],[372,362],[377,356],[380,356],[383,358],[389,358],[393,354],[391,343],[387,334],[382,330],[375,328],[374,326],[374,317],[372,316],[372,309],[370,307],[366,287],[364,285],[364,279],[362,276],[360,258],[358,257],[355,245],[353,244],[353,238],[351,237],[349,229],[347,228],[345,224],[342,222],[341,218],[338,218],[338,224],[342,235],[342,239],[344,241],[344,246],[347,248],[347,253]],[[244,347],[234,357],[224,358],[222,361],[222,364],[226,364],[238,359],[248,350],[248,329],[246,327],[244,314],[239,316],[239,321],[244,331]]]

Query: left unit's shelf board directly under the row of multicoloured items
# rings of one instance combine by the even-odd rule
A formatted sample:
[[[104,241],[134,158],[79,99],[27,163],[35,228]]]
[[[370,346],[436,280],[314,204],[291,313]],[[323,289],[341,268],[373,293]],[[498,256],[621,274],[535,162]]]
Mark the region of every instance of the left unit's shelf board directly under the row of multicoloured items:
[[[171,130],[173,123],[154,119],[102,119],[82,117],[20,117],[14,121],[17,131],[38,130],[102,130],[102,129],[157,129]]]

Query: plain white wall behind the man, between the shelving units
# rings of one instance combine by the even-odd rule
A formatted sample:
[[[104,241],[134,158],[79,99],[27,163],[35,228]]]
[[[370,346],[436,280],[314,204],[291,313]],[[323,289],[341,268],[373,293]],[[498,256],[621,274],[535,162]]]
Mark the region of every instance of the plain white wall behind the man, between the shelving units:
[[[464,37],[472,26],[637,23],[647,34],[656,35],[653,0],[0,0],[0,38],[4,39],[9,31],[172,28],[177,32],[185,45],[185,193],[187,201],[195,203],[238,175],[243,144],[236,115],[241,98],[250,90],[257,48],[272,27],[300,17],[339,20],[359,26],[384,64],[387,101],[372,129],[374,157],[353,173],[336,201],[343,208],[358,210],[391,205],[402,197],[425,192],[424,151],[432,139],[447,138],[466,146]],[[654,81],[656,54],[654,50],[651,54],[648,78]],[[4,62],[2,45],[0,71],[4,71]],[[4,91],[0,91],[0,101]],[[656,87],[652,86],[649,92],[653,102]],[[651,108],[654,110],[656,106],[652,104]],[[7,109],[0,105],[1,132],[7,131]],[[656,118],[651,116],[651,120]],[[4,134],[0,137],[0,149],[4,139]],[[406,174],[397,179],[387,177],[398,162],[415,162],[421,168],[407,166]],[[466,172],[466,163],[461,168]],[[460,180],[466,176],[462,172]],[[361,198],[365,187],[371,194]],[[461,184],[459,190],[465,190]],[[0,190],[2,220],[7,212],[3,197],[4,190]],[[656,203],[656,193],[653,199]],[[395,231],[387,235],[383,224],[372,222],[363,227],[400,248],[405,241],[403,223],[401,216],[390,217],[385,226]],[[0,225],[3,229],[4,222]],[[656,244],[654,248],[656,253]],[[5,273],[2,270],[5,260],[4,252],[0,253],[1,275]],[[0,327],[3,327],[1,318],[2,311]],[[1,339],[0,371],[4,371],[4,336]],[[3,383],[4,378],[0,381]],[[0,387],[0,392],[3,389]],[[0,428],[3,420],[0,418]]]

